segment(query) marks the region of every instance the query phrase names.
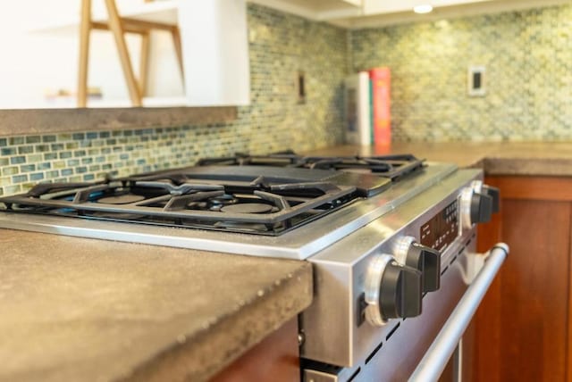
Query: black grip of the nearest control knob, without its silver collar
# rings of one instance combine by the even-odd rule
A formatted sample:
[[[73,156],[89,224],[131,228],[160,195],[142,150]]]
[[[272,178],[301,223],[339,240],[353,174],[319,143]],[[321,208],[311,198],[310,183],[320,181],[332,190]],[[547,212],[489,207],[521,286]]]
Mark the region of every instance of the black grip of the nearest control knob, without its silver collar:
[[[391,261],[385,266],[379,291],[379,306],[385,320],[421,314],[421,272]]]

